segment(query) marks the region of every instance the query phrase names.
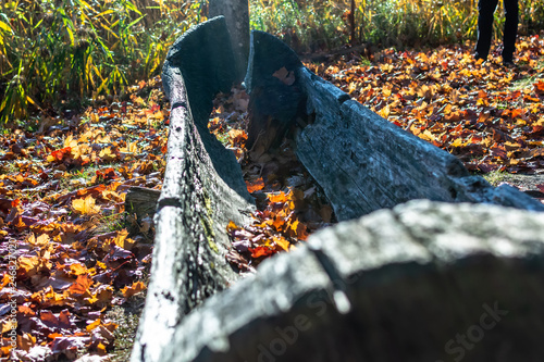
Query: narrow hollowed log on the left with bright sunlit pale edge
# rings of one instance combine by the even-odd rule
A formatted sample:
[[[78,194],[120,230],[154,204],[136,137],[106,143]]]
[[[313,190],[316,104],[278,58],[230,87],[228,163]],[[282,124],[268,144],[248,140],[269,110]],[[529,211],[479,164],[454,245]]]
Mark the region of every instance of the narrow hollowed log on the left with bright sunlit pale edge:
[[[249,223],[254,207],[236,158],[207,128],[213,97],[234,80],[227,35],[224,18],[212,18],[183,35],[166,57],[168,162],[132,362],[166,361],[183,316],[239,276],[225,259],[226,226]]]

